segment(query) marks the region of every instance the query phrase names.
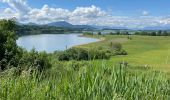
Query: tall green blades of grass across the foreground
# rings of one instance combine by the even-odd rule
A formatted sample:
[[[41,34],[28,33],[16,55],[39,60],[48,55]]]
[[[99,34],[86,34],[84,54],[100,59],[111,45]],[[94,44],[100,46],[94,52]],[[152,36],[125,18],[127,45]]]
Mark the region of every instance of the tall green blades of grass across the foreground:
[[[166,100],[170,98],[170,81],[156,71],[132,72],[130,67],[112,66],[104,61],[87,64],[75,71],[54,75],[42,73],[29,77],[0,79],[2,100]]]

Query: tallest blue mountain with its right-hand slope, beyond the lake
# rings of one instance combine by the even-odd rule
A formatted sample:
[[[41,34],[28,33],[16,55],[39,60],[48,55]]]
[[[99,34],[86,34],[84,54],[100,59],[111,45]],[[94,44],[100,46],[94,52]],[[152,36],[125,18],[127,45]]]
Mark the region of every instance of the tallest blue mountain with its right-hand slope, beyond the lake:
[[[94,27],[91,27],[89,25],[72,25],[66,21],[52,22],[46,25],[56,26],[56,27],[66,27],[66,28],[94,29]]]

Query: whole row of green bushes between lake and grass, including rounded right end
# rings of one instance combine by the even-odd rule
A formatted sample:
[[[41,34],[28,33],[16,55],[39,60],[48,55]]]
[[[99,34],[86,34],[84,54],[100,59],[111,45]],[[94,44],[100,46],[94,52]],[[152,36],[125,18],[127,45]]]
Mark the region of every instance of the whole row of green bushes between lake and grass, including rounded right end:
[[[73,47],[63,52],[57,52],[56,54],[59,61],[69,60],[95,60],[95,59],[109,59],[115,55],[127,55],[127,52],[122,49],[120,43],[112,43],[108,48],[96,47],[96,48],[77,48]]]

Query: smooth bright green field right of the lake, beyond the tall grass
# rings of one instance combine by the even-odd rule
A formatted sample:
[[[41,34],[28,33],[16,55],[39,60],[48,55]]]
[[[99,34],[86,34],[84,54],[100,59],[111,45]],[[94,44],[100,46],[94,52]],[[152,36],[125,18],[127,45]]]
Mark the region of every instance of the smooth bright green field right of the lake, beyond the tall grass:
[[[91,36],[90,36],[91,37]],[[109,43],[121,43],[123,49],[128,52],[126,56],[114,56],[111,62],[128,62],[131,66],[149,66],[154,69],[170,71],[170,37],[165,36],[128,36],[104,35],[93,36],[105,39],[97,43],[83,45],[81,47],[108,46]]]

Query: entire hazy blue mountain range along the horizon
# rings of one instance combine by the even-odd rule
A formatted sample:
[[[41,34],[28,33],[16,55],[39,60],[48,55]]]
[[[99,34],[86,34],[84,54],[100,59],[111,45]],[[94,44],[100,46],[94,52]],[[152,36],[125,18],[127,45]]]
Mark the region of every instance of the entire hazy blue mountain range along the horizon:
[[[33,22],[29,23],[19,23],[17,25],[33,25],[33,26],[55,26],[55,27],[62,27],[62,28],[71,28],[71,29],[81,29],[81,30],[170,30],[170,24],[166,25],[158,25],[158,26],[150,26],[144,28],[127,28],[127,27],[118,27],[118,26],[98,26],[98,25],[73,25],[66,21],[58,21],[52,22],[49,24],[36,24]]]

